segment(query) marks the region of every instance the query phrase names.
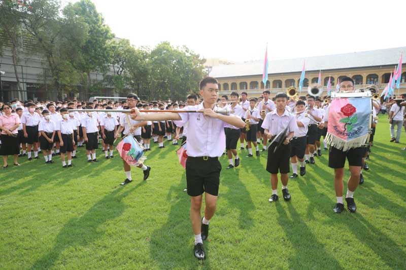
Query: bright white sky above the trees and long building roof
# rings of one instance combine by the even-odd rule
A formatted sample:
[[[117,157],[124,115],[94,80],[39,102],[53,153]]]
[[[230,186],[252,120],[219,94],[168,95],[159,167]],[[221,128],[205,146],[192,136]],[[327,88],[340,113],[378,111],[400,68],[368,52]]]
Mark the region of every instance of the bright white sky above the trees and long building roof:
[[[205,58],[260,60],[266,46],[270,61],[406,46],[404,0],[92,1],[132,45],[168,41]]]

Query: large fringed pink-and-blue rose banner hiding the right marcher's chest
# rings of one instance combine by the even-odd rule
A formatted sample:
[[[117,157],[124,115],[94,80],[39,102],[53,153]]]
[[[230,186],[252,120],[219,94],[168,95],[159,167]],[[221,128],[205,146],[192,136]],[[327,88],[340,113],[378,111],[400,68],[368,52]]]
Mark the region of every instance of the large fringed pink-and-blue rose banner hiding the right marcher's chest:
[[[371,127],[371,98],[333,98],[328,113],[326,141],[347,151],[369,140]]]

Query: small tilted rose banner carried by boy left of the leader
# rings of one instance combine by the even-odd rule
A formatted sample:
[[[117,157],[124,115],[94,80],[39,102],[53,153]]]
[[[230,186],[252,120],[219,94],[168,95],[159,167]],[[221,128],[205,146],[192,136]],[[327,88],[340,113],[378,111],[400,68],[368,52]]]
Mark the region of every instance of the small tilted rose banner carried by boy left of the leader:
[[[120,157],[128,165],[138,166],[146,157],[144,157],[144,147],[132,136],[125,136],[116,146]]]

